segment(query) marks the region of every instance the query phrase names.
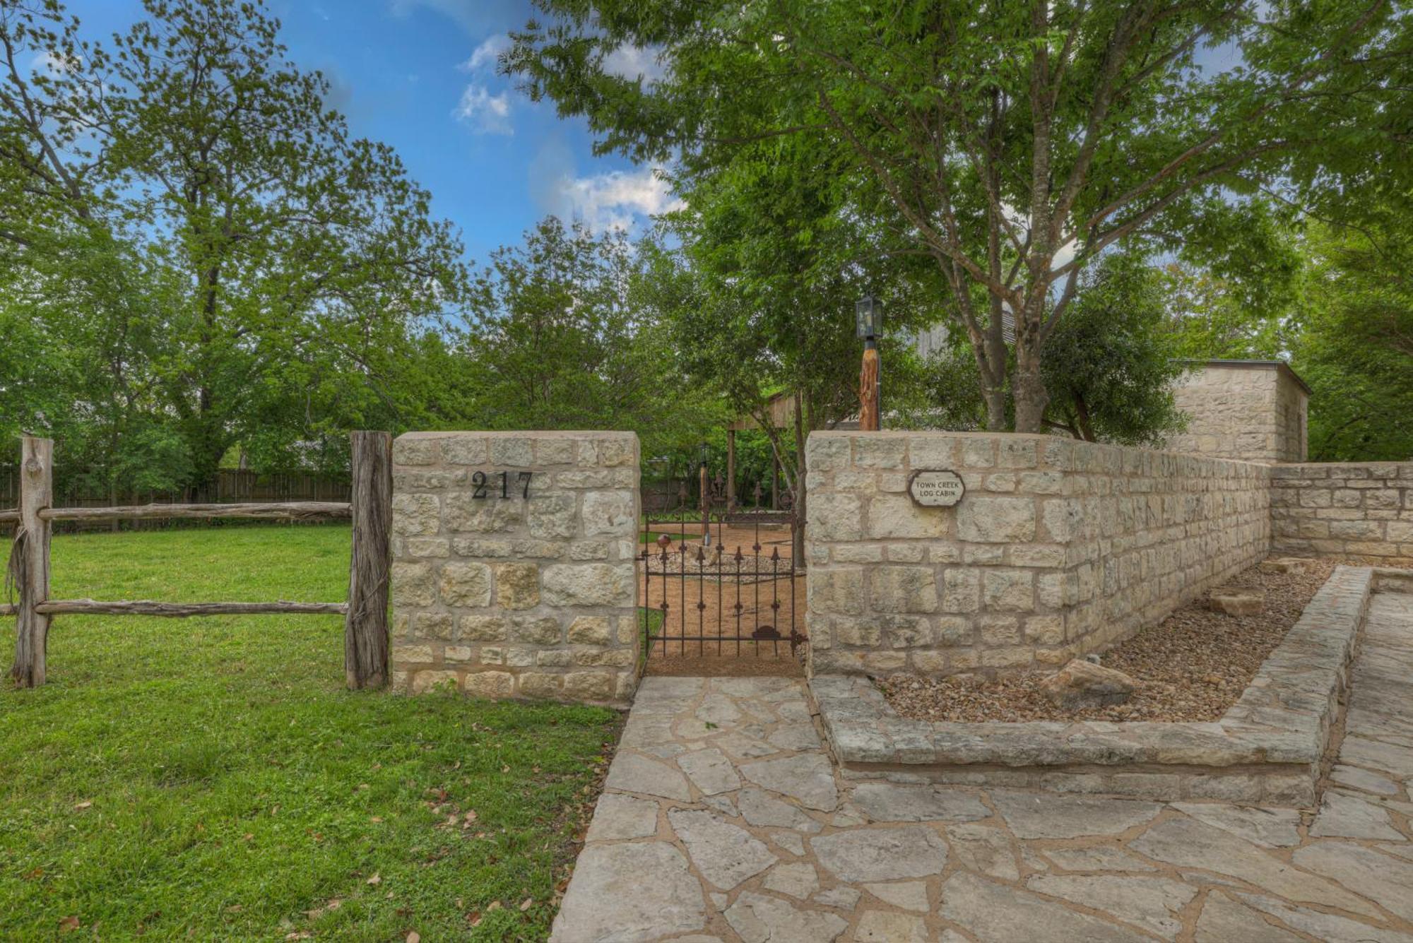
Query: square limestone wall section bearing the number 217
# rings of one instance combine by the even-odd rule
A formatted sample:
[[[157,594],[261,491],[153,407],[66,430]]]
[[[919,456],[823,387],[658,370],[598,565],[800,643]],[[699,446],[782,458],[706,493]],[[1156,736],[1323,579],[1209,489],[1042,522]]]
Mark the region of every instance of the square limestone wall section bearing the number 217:
[[[398,436],[393,687],[626,704],[637,486],[632,432]]]

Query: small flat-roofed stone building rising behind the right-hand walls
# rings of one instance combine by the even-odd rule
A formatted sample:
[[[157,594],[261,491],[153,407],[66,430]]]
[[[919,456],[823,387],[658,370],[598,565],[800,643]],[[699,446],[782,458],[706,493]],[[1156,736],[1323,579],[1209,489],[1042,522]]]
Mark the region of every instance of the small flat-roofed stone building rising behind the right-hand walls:
[[[1310,391],[1277,360],[1212,360],[1194,366],[1173,391],[1187,429],[1169,439],[1173,452],[1304,462]]]

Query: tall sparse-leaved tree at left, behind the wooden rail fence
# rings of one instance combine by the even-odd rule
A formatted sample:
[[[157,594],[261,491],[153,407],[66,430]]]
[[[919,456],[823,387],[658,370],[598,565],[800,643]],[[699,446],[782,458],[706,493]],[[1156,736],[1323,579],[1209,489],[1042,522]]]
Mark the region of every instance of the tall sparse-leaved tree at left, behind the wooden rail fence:
[[[42,263],[55,244],[131,247],[158,349],[129,373],[194,481],[236,445],[342,456],[348,424],[406,415],[390,390],[465,292],[461,244],[390,148],[350,138],[261,3],[144,10],[105,47],[57,0],[0,7],[4,261],[59,294],[76,270]]]

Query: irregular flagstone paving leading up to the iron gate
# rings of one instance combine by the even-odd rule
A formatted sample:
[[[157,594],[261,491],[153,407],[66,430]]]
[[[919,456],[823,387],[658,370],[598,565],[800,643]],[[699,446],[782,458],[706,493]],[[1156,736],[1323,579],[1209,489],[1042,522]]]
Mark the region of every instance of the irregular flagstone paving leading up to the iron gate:
[[[552,940],[1413,943],[1413,594],[1318,815],[852,783],[804,683],[647,678]]]

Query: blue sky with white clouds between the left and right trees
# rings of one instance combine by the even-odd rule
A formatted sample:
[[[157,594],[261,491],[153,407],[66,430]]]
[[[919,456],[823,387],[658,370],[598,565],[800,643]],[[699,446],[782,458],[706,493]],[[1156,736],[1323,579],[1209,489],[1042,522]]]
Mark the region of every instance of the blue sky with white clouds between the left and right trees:
[[[468,256],[520,241],[547,213],[595,229],[636,226],[666,209],[653,178],[592,155],[579,119],[561,120],[495,73],[507,30],[528,0],[267,0],[290,58],[322,71],[331,102],[360,137],[391,144],[432,193],[432,212],[462,230]],[[69,0],[92,38],[143,16],[140,0]],[[623,62],[625,69],[651,64]]]

